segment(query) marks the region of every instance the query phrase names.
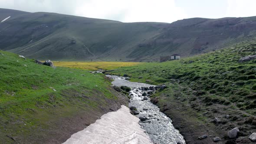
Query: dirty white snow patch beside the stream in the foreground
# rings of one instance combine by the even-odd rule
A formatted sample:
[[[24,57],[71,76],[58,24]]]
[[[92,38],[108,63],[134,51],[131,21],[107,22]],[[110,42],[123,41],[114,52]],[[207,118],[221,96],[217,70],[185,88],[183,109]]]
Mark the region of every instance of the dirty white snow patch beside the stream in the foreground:
[[[95,123],[79,131],[63,144],[152,144],[124,105],[118,111],[102,115]]]

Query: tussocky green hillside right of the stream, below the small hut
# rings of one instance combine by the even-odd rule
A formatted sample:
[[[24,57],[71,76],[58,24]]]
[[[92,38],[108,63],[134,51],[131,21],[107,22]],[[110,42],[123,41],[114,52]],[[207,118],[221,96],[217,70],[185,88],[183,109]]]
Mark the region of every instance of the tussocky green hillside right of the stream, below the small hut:
[[[190,129],[194,134],[193,129],[204,131],[202,125],[206,125],[210,131],[205,130],[200,134],[218,131],[213,134],[225,139],[225,131],[239,126],[241,135],[246,138],[241,141],[246,143],[251,134],[249,131],[256,131],[250,119],[256,115],[256,60],[244,63],[238,60],[255,54],[256,43],[244,42],[200,56],[123,67],[111,73],[128,74],[134,82],[166,83],[168,88],[153,98],[159,100],[162,111],[174,118],[177,127],[178,123],[182,125],[187,122],[194,125],[195,128]],[[225,115],[230,115],[230,118],[224,118]],[[223,123],[214,127],[210,122],[214,117],[220,118]],[[179,128],[183,132],[184,127]],[[191,142],[197,141],[200,135],[185,136]]]

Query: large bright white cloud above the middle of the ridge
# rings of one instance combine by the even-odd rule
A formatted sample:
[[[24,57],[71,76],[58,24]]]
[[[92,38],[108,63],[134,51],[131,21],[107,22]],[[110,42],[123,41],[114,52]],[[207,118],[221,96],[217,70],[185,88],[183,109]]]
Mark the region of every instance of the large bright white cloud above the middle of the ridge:
[[[187,18],[174,0],[93,0],[85,2],[76,15],[122,22],[167,22]]]

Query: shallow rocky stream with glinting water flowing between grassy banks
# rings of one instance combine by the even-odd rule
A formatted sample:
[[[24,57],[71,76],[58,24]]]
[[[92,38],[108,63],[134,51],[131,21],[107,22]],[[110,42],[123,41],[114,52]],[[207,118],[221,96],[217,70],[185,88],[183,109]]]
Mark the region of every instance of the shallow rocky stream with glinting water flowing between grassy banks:
[[[115,86],[128,86],[131,88],[129,108],[131,113],[140,119],[141,128],[146,131],[154,144],[185,144],[183,136],[174,128],[171,118],[159,111],[149,96],[153,94],[155,85],[138,82],[129,82],[125,77],[106,75],[114,79]]]

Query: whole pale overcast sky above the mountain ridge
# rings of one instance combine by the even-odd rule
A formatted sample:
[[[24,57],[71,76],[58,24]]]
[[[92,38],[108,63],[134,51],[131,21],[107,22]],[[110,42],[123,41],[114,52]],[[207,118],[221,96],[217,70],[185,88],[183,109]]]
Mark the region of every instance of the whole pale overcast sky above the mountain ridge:
[[[0,8],[121,22],[256,16],[256,0],[0,0]]]

